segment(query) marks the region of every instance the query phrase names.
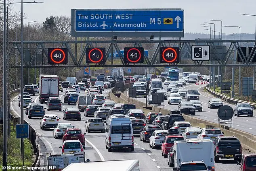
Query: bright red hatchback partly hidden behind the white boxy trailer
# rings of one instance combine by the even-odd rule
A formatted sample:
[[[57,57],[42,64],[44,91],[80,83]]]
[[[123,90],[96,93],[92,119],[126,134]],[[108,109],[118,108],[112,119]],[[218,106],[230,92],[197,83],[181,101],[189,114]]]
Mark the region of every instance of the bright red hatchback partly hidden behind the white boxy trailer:
[[[166,136],[161,146],[162,156],[164,156],[164,158],[167,157],[168,152],[170,151],[170,148],[174,144],[174,141],[182,141],[182,140],[184,140],[183,136],[174,136],[174,135]]]

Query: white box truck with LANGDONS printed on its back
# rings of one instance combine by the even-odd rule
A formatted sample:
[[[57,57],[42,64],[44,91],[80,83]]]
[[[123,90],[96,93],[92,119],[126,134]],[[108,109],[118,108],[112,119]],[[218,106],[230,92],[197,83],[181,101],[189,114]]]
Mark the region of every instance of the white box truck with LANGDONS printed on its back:
[[[59,97],[59,76],[39,76],[39,102],[45,103],[49,97]]]

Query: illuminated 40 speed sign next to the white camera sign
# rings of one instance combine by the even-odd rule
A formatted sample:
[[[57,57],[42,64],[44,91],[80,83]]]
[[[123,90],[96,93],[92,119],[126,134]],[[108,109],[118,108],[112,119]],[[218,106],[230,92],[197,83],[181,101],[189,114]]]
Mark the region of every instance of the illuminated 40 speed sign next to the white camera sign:
[[[179,47],[160,47],[160,63],[179,63],[180,48]]]

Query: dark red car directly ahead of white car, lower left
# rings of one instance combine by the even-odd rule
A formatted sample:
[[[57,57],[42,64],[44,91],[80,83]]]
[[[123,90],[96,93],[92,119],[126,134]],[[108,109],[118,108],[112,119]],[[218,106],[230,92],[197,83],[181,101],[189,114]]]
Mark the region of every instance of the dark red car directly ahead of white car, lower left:
[[[63,135],[62,143],[65,140],[80,140],[82,145],[85,147],[85,138],[84,138],[85,134],[86,134],[85,132],[83,134],[80,128],[68,128]]]

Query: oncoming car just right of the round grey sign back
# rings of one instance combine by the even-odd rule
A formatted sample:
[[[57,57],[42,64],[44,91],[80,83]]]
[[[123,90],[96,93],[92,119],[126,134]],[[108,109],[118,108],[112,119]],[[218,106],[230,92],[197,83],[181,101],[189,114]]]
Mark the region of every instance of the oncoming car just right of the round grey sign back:
[[[252,117],[253,109],[249,103],[237,103],[237,105],[235,105],[234,114],[235,116],[248,115],[248,117]]]

